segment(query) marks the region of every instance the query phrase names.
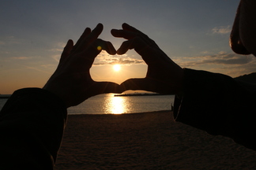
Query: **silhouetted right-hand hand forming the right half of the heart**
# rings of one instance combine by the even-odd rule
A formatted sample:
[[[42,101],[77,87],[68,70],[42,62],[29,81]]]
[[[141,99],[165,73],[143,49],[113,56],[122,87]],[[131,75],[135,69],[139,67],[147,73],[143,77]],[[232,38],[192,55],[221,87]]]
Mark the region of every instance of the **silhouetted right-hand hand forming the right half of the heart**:
[[[127,50],[134,49],[148,65],[145,78],[127,79],[121,83],[123,91],[144,90],[161,94],[182,94],[183,68],[171,61],[156,42],[129,24],[122,24],[121,30],[112,29],[111,34],[128,39],[122,42],[117,54],[125,54]]]

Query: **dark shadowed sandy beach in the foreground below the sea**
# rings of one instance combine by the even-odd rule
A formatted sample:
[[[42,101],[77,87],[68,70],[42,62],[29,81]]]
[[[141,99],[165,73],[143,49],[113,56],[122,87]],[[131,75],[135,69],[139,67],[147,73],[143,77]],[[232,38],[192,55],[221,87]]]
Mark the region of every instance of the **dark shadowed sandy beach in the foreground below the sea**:
[[[256,169],[256,153],[171,111],[69,115],[55,169]]]

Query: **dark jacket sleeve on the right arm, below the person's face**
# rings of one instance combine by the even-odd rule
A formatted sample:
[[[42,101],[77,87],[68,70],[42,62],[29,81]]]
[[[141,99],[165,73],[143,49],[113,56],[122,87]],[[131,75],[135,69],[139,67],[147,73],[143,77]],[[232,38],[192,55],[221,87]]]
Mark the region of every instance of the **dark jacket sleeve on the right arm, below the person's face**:
[[[255,84],[186,68],[184,94],[175,97],[174,116],[176,121],[256,150]]]

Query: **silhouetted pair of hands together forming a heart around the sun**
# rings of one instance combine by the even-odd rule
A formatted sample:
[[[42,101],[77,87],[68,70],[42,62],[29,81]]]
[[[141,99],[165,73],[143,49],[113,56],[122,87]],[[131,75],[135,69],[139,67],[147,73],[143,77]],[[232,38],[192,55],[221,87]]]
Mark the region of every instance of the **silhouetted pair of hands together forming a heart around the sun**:
[[[43,89],[57,94],[66,102],[66,107],[78,105],[96,94],[122,93],[127,90],[181,93],[183,69],[171,61],[147,35],[128,24],[122,24],[121,30],[111,30],[113,36],[127,39],[116,51],[111,42],[98,39],[102,31],[103,25],[98,24],[92,31],[86,28],[74,46],[73,41],[69,40],[62,52],[58,68]],[[125,54],[130,49],[136,50],[148,65],[145,78],[127,79],[120,85],[92,79],[89,69],[101,50],[114,55]]]

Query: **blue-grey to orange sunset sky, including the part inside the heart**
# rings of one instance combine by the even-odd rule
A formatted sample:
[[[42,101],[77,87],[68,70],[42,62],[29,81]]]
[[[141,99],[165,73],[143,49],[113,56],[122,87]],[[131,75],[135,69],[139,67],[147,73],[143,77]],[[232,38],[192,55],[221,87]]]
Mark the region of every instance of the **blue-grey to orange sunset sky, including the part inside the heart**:
[[[124,39],[112,28],[126,22],[149,35],[183,68],[241,76],[256,71],[254,56],[234,54],[229,35],[239,0],[2,0],[0,6],[0,94],[43,87],[55,72],[68,39],[104,24],[100,39],[116,49]],[[119,72],[113,65],[121,65]],[[145,77],[147,65],[128,51],[96,57],[92,79],[122,83]]]

